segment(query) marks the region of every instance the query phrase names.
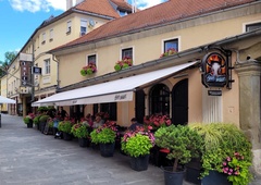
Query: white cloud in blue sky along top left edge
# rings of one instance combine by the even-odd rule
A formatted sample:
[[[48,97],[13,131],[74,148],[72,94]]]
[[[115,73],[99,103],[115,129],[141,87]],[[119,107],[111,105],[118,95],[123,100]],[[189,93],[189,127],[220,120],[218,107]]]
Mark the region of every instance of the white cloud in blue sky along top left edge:
[[[50,9],[65,10],[66,0],[9,0],[11,7],[16,11],[49,12]]]

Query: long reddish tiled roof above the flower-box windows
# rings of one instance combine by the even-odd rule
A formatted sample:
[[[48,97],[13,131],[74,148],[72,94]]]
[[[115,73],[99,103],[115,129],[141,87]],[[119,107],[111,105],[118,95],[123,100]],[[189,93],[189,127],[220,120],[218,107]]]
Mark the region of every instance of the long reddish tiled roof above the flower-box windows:
[[[110,21],[85,36],[53,50],[70,48],[72,46],[75,47],[84,42],[96,41],[117,36],[119,34],[129,33],[253,1],[257,0],[170,0],[150,9]]]

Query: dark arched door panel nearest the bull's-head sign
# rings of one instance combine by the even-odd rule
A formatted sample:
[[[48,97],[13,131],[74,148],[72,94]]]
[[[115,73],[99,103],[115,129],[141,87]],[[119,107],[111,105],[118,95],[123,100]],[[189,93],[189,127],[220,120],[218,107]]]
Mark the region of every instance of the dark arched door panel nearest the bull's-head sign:
[[[188,79],[178,82],[172,89],[172,123],[188,122]]]

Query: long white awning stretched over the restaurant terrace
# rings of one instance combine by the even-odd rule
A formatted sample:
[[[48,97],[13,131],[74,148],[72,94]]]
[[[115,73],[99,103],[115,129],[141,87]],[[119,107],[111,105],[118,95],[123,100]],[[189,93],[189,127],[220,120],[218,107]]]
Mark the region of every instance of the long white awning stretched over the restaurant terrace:
[[[74,90],[63,91],[32,103],[40,106],[73,106],[102,102],[132,101],[133,91],[150,83],[171,76],[197,63],[190,62],[163,70],[158,70],[136,76],[87,86]]]

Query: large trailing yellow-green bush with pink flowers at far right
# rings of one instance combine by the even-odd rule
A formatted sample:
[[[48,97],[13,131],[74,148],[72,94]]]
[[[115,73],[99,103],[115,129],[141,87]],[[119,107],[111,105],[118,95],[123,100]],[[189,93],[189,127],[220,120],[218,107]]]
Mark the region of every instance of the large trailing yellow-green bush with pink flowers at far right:
[[[197,131],[204,143],[201,156],[203,185],[247,185],[251,182],[251,143],[236,125],[194,123],[189,127]]]

